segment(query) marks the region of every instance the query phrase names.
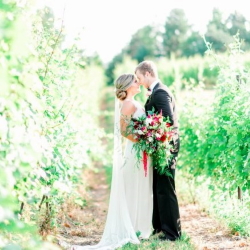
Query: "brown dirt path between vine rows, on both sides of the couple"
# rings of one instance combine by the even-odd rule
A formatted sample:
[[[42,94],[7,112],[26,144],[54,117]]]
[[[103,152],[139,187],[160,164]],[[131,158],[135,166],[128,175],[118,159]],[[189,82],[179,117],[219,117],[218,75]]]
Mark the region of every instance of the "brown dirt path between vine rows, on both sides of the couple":
[[[75,207],[68,211],[59,235],[59,244],[63,249],[69,249],[72,244],[87,245],[100,240],[109,199],[109,187],[104,176],[104,171],[89,173],[92,201],[84,209]],[[209,217],[198,205],[180,206],[180,214],[182,230],[191,237],[197,250],[250,250],[249,239],[231,235],[222,223]]]

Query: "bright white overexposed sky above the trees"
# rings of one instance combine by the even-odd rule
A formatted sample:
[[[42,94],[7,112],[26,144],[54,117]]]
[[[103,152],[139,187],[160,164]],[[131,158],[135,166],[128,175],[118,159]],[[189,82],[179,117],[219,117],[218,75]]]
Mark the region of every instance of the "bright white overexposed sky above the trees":
[[[70,42],[81,32],[81,46],[86,54],[99,54],[103,62],[109,62],[130,41],[131,36],[145,25],[164,24],[174,8],[184,10],[189,23],[203,33],[212,18],[213,8],[224,16],[238,11],[248,20],[246,0],[41,0],[50,6],[57,24],[61,19]]]

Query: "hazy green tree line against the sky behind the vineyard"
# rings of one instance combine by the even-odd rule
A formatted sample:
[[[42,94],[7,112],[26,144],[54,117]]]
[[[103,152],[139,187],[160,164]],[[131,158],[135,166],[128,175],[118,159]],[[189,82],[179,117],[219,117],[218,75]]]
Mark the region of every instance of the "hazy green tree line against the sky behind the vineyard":
[[[232,41],[232,37],[239,31],[240,38],[244,40],[244,50],[250,49],[250,33],[248,21],[239,13],[230,14],[226,21],[222,12],[213,9],[212,18],[207,24],[206,41],[213,45],[213,50],[225,52],[225,44]],[[189,25],[182,9],[173,9],[162,26],[147,25],[139,29],[131,38],[128,46],[116,55],[106,68],[107,84],[113,85],[114,71],[124,57],[130,56],[138,62],[147,58],[170,58],[174,55],[180,57],[204,56],[206,44],[202,35]],[[200,69],[202,70],[202,69]],[[210,70],[209,70],[210,71]],[[217,74],[215,74],[217,75]]]

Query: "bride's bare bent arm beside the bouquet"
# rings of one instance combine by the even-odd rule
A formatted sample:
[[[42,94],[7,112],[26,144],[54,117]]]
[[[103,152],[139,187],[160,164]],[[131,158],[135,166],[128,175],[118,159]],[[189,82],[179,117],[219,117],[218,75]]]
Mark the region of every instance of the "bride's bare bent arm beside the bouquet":
[[[120,118],[121,135],[132,142],[137,142],[137,140],[134,138],[132,134],[127,133],[127,126],[135,111],[136,107],[132,102],[127,101],[126,104],[123,103],[121,108],[121,118]]]

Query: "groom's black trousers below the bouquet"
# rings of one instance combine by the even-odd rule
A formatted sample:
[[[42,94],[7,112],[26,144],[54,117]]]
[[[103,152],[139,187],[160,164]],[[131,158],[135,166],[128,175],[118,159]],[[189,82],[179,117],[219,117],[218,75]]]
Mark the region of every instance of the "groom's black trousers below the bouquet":
[[[156,169],[153,170],[153,228],[163,231],[166,238],[171,241],[181,236],[180,212],[174,180],[179,140],[176,143],[178,150],[174,152],[175,158],[168,166],[173,178],[159,175]]]

